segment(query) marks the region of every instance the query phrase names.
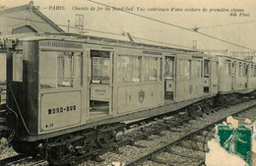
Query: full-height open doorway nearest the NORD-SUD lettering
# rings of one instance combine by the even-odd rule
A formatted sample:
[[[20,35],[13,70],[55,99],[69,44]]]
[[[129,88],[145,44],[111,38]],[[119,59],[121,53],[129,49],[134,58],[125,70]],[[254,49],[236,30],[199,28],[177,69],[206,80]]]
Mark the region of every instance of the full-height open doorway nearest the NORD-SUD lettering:
[[[110,114],[112,94],[112,54],[91,50],[90,112]]]

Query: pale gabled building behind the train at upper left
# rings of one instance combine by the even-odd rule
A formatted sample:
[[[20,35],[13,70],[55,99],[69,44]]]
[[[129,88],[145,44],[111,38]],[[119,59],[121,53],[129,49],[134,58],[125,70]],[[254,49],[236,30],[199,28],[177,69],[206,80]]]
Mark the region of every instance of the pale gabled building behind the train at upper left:
[[[18,34],[25,32],[65,32],[45,15],[39,12],[32,2],[15,7],[0,7],[0,35]],[[6,56],[0,52],[0,82],[6,80]]]

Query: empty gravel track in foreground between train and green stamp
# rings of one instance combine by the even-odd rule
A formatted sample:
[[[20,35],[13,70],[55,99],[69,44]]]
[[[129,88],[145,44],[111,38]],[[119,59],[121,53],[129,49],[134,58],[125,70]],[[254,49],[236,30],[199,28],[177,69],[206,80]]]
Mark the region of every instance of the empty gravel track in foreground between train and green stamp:
[[[256,109],[255,104],[256,101],[252,100],[222,109],[222,111],[216,109],[210,115],[194,120],[190,119],[188,123],[181,122],[178,127],[171,125],[170,127],[166,124],[160,127],[161,122],[164,121],[160,120],[158,121],[160,123],[155,125],[160,128],[155,129],[155,132],[152,130],[148,134],[142,133],[139,135],[132,132],[133,135],[130,135],[132,143],[125,139],[117,143],[116,147],[119,147],[118,149],[112,149],[111,152],[107,153],[98,151],[97,157],[100,156],[104,159],[104,162],[90,161],[83,164],[109,165],[120,162],[120,164],[125,165],[204,165],[205,152],[209,150],[207,142],[214,136],[215,125],[222,124],[228,116],[237,115],[236,118],[238,118],[238,114],[242,115],[241,117],[253,118],[253,116],[246,116],[242,112],[247,111],[253,114]],[[147,137],[143,138],[143,135]],[[152,139],[155,142],[151,141]],[[162,159],[160,156],[165,156],[168,160]],[[97,159],[97,161],[101,161],[101,159]]]

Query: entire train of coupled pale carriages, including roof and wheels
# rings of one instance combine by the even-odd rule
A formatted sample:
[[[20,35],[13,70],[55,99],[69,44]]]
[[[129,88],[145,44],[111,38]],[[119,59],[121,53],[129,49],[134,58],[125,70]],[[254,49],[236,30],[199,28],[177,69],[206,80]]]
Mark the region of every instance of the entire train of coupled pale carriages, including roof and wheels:
[[[69,151],[66,139],[105,146],[124,121],[193,114],[218,93],[256,85],[255,64],[196,50],[78,34],[20,34],[3,48],[7,126],[21,153]],[[240,65],[247,77],[231,75]]]

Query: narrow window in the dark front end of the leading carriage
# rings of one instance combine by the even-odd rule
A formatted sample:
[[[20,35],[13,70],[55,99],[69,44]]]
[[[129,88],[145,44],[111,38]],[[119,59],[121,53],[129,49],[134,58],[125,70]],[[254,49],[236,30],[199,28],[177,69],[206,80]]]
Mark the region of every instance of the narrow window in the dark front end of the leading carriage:
[[[23,52],[13,54],[13,82],[23,82]]]

